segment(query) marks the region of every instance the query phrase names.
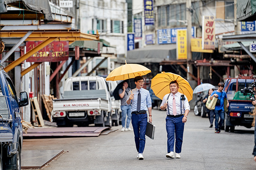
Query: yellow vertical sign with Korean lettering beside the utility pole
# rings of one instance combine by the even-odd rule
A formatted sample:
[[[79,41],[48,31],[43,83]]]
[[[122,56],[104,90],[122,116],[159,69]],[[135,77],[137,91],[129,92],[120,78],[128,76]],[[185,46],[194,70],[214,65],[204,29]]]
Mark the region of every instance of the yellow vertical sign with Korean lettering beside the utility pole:
[[[187,59],[187,30],[177,30],[177,59]]]

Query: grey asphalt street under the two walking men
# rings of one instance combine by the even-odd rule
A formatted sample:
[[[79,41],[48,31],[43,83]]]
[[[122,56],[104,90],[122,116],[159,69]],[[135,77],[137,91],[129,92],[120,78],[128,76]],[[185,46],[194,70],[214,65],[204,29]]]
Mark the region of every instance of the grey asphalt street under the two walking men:
[[[144,160],[137,159],[133,131],[99,137],[24,139],[23,150],[57,150],[64,153],[42,170],[255,170],[254,127],[236,127],[234,133],[214,133],[209,119],[189,112],[180,159],[166,158],[165,111],[152,110],[155,139],[146,136]]]

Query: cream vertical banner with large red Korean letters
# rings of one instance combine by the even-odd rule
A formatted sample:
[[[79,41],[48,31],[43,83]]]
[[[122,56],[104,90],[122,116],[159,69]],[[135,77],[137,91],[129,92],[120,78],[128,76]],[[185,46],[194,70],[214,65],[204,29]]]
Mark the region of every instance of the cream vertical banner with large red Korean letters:
[[[203,16],[202,48],[206,50],[215,49],[215,17]]]

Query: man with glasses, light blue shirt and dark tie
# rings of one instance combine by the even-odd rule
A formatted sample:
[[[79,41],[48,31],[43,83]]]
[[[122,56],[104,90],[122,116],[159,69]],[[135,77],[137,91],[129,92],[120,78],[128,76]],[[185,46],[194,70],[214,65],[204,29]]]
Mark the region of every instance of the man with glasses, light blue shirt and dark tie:
[[[142,88],[144,84],[143,77],[134,77],[134,83],[136,88],[129,91],[126,105],[131,105],[131,124],[134,129],[134,139],[138,152],[137,158],[143,160],[148,116],[149,122],[152,122],[152,104],[149,91]],[[146,111],[148,111],[148,115]]]

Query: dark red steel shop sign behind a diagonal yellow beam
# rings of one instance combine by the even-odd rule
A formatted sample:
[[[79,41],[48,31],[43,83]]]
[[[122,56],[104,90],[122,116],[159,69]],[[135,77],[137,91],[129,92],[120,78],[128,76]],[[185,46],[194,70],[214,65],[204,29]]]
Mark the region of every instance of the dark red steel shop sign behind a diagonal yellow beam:
[[[30,51],[42,41],[27,41],[26,51]],[[53,41],[33,56],[26,59],[27,62],[58,62],[68,60],[69,57],[69,42],[68,41]]]

